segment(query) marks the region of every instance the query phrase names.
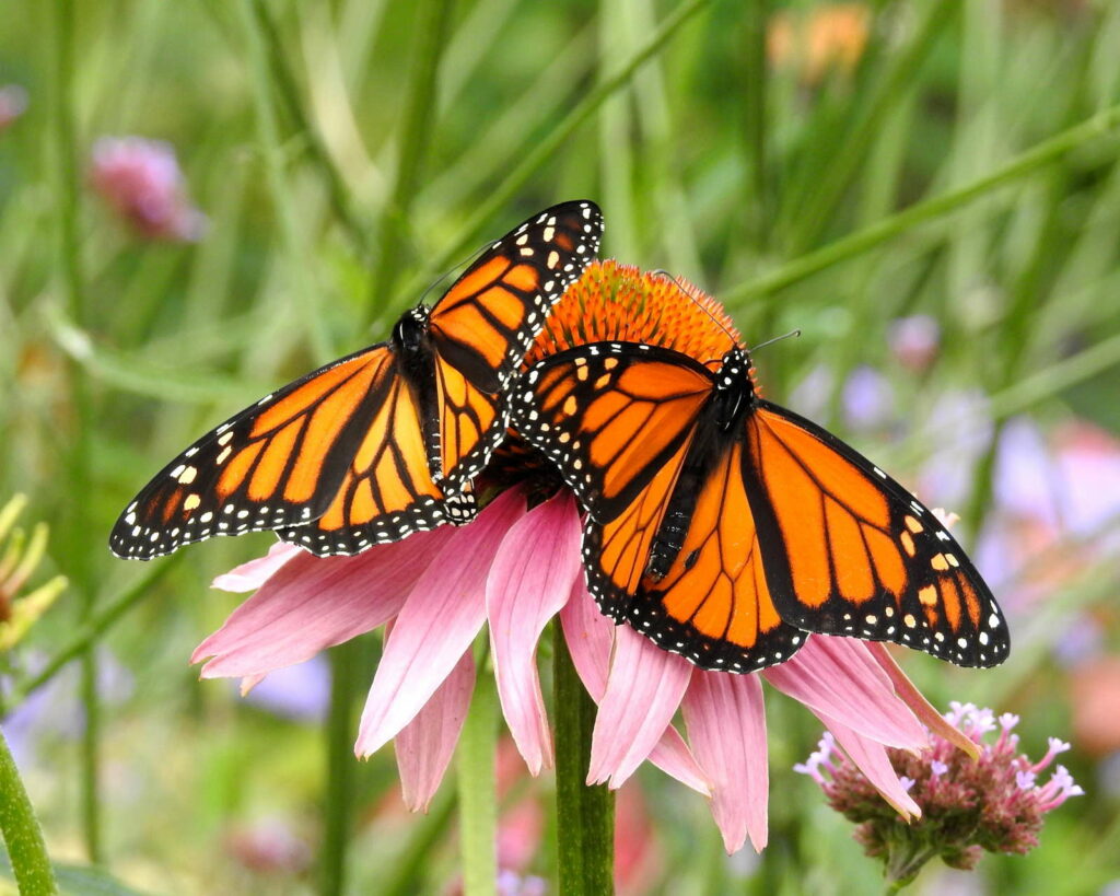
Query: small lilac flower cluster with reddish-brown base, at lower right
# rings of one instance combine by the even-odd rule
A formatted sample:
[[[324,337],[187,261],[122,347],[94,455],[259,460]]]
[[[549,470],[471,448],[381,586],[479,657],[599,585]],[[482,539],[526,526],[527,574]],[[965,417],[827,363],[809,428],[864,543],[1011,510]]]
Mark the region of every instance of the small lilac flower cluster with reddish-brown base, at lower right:
[[[832,809],[859,824],[856,839],[868,856],[884,859],[895,881],[912,879],[936,856],[953,868],[971,869],[984,850],[1029,852],[1038,844],[1043,816],[1083,793],[1064,766],[1051,768],[1068,744],[1049,738],[1037,762],[1018,752],[1018,716],[997,717],[990,709],[953,702],[944,719],[976,744],[977,758],[935,732],[925,752],[888,750],[921,809],[920,821],[899,818],[828,734],[809,760],[795,766],[820,784]]]

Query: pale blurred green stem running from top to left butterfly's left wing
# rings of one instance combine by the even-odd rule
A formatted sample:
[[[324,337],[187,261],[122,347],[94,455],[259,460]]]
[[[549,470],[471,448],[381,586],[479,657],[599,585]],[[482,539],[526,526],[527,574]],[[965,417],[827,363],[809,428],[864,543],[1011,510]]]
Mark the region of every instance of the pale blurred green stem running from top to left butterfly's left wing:
[[[264,171],[268,180],[272,209],[280,224],[280,236],[287,256],[287,269],[293,284],[293,304],[300,309],[307,323],[311,352],[317,362],[326,362],[332,356],[330,340],[319,314],[317,290],[311,281],[310,253],[304,251],[300,239],[299,215],[292,202],[292,185],[286,180],[283,147],[277,125],[277,112],[272,103],[272,69],[269,54],[262,38],[264,28],[260,24],[258,7],[262,0],[241,0],[237,4],[242,19],[245,50],[252,69],[253,103],[256,112],[256,139],[264,155]]]

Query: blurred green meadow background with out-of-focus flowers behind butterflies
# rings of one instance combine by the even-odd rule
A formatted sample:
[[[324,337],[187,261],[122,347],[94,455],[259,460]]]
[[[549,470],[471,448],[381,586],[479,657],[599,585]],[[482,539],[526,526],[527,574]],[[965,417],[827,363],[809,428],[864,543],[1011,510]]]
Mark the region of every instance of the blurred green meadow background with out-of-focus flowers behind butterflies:
[[[26,494],[21,524],[49,523],[29,587],[69,586],[3,657],[4,731],[54,857],[92,847],[151,893],[329,889],[316,856],[348,775],[347,892],[455,892],[452,782],[410,816],[390,752],[356,764],[355,726],[324,724],[363,697],[375,644],[334,692],[325,661],[250,700],[187,666],[237,603],[209,580],[271,536],[146,567],[105,540],[199,432],[588,197],[604,255],[700,284],[750,343],[800,328],[758,358],[767,394],[961,514],[1014,655],[905,655],[931,700],[1020,713],[1033,755],[1074,744],[1088,795],[1034,853],[917,889],[1120,892],[1118,46],[1107,0],[7,3],[0,505]],[[177,153],[169,218],[106,174],[127,136]],[[90,614],[111,624],[83,640]],[[880,886],[791,771],[819,726],[768,712],[765,853],[724,856],[702,800],[644,769],[619,806],[624,892]],[[504,861],[536,886],[552,783],[506,765]]]

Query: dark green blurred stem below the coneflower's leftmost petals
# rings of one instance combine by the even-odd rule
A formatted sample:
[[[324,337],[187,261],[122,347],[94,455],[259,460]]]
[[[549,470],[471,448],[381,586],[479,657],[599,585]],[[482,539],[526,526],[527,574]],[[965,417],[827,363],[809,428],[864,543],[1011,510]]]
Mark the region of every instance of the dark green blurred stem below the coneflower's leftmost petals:
[[[334,647],[330,659],[330,709],[327,715],[327,784],[323,806],[323,852],[319,893],[338,896],[346,888],[346,846],[349,842],[354,792],[355,682],[365,644],[347,641]]]

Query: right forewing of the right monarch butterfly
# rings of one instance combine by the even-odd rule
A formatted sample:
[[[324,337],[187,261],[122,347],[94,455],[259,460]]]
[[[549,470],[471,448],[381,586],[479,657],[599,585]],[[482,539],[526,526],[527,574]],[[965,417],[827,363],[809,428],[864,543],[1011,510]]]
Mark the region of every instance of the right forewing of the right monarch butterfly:
[[[747,494],[766,578],[800,628],[894,641],[958,665],[1007,659],[1007,623],[936,516],[840,439],[759,401]]]

